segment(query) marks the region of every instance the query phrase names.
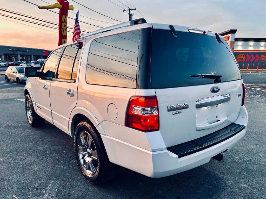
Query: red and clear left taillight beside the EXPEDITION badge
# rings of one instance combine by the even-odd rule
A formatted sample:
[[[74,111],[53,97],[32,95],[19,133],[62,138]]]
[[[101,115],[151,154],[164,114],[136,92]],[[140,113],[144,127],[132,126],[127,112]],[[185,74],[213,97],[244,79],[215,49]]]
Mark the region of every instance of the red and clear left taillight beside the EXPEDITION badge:
[[[125,126],[140,131],[159,130],[159,109],[156,96],[131,97],[126,113]]]

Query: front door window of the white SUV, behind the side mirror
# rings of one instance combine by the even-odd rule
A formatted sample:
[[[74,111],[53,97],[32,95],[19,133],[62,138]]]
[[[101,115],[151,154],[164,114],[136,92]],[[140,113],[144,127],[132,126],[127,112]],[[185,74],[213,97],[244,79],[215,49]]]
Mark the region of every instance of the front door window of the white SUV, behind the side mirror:
[[[46,60],[43,68],[43,72],[46,75],[44,77],[55,77],[55,66],[57,64],[61,50],[62,48],[53,51],[53,53]]]

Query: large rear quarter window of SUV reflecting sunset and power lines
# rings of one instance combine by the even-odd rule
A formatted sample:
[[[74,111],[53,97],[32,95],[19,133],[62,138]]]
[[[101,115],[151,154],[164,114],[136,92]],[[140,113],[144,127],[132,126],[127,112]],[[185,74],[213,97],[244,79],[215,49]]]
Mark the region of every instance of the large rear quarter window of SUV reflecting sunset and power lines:
[[[89,84],[136,88],[139,31],[95,39],[90,47]]]

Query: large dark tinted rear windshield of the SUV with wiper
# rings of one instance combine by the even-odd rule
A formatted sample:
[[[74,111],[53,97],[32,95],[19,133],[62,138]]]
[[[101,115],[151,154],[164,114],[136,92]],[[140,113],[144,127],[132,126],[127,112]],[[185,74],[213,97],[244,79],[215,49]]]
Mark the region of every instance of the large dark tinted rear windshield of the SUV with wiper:
[[[241,79],[233,54],[216,37],[170,30],[152,30],[152,88],[212,84],[214,79],[190,77],[198,74],[222,75],[221,82]]]

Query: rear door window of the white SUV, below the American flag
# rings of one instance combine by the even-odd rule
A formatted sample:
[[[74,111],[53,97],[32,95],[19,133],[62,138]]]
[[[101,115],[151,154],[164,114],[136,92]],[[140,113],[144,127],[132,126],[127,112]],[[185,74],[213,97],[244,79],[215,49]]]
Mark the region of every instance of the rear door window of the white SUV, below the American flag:
[[[66,46],[64,53],[62,54],[62,57],[60,59],[56,78],[73,80],[76,79],[77,67],[73,67],[78,65],[78,61],[75,61],[78,48],[79,47],[76,45]],[[74,62],[76,62],[76,64],[74,64]],[[75,73],[74,76],[72,76],[72,71],[73,73]]]

